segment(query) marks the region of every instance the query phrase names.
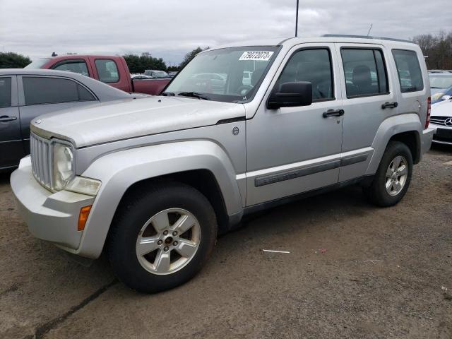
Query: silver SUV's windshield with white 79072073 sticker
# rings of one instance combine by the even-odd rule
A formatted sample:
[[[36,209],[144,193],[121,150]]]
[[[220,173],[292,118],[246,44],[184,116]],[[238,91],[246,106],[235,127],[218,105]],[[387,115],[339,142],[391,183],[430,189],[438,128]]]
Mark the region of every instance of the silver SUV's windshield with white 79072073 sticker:
[[[221,102],[248,102],[254,97],[277,50],[278,47],[254,46],[203,52],[177,74],[163,95],[180,93]]]

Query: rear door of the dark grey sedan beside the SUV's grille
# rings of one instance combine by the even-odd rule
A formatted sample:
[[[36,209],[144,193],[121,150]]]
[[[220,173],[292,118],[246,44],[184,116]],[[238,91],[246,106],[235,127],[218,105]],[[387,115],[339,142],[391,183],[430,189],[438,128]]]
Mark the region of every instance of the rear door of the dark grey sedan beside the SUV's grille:
[[[56,76],[18,76],[20,124],[25,153],[30,153],[30,121],[35,117],[91,105],[97,98],[81,83]],[[69,121],[68,121],[69,122]]]

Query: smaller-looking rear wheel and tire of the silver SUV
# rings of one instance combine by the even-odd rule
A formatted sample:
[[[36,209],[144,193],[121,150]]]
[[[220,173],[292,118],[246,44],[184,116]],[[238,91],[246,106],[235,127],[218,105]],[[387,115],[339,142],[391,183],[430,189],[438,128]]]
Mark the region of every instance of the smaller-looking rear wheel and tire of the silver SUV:
[[[394,173],[393,168],[397,165],[398,160],[401,160],[400,165],[397,166],[398,172]],[[406,172],[401,170],[403,164],[406,166]],[[412,176],[412,166],[410,148],[405,143],[390,141],[381,158],[374,180],[370,186],[363,188],[365,196],[376,206],[388,207],[396,205],[408,191]],[[406,173],[404,179],[403,175],[398,176],[398,174],[402,173]],[[387,175],[389,174],[391,175],[388,178]],[[401,189],[397,183],[401,185]],[[390,186],[388,189],[387,185]]]

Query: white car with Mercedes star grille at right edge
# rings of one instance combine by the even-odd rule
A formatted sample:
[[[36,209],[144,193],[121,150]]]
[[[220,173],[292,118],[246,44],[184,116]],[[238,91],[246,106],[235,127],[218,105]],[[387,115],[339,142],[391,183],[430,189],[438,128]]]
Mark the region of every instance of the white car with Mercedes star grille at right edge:
[[[429,127],[435,129],[434,143],[452,145],[452,97],[432,105]]]

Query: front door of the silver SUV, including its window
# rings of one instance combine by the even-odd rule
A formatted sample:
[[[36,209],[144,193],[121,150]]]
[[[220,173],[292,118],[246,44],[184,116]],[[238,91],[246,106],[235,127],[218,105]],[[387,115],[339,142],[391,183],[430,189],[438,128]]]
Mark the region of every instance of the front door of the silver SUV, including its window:
[[[285,57],[246,121],[246,206],[338,182],[343,104],[335,60],[333,44],[300,44]],[[275,86],[296,81],[312,83],[310,106],[266,107]]]

